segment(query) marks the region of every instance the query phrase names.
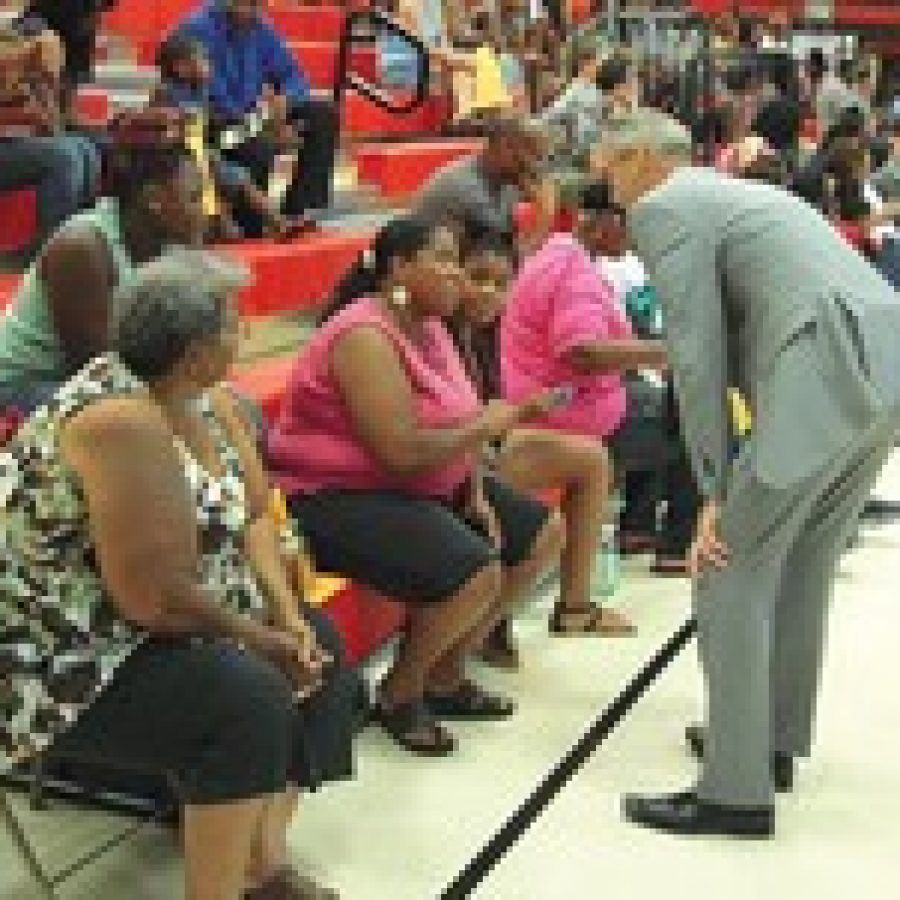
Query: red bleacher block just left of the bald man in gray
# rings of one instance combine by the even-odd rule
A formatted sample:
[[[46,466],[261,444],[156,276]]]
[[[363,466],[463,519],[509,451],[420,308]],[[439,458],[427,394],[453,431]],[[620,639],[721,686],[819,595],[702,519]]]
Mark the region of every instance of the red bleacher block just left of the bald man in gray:
[[[353,157],[360,180],[374,184],[386,197],[397,197],[418,190],[442,166],[480,147],[479,140],[359,144]]]

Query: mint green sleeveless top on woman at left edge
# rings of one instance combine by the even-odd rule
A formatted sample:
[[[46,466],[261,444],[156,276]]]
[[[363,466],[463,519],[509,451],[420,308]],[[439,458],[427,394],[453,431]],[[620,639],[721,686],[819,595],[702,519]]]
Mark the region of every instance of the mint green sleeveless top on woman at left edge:
[[[69,219],[60,232],[73,228],[99,233],[109,248],[117,284],[131,277],[135,266],[122,239],[114,199],[100,199],[92,209]],[[19,389],[27,395],[29,385],[62,384],[72,374],[67,371],[39,264],[34,262],[7,314],[0,318],[0,395],[12,397]]]

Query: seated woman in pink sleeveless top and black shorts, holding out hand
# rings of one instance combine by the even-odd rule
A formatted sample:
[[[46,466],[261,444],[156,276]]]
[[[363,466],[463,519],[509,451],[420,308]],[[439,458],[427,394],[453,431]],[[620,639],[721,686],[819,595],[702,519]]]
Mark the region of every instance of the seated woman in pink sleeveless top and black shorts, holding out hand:
[[[477,471],[487,441],[543,407],[479,403],[441,323],[459,274],[450,231],[389,223],[298,357],[267,454],[317,567],[408,604],[376,717],[424,755],[455,747],[439,718],[512,714],[465,658],[561,538],[553,513]]]

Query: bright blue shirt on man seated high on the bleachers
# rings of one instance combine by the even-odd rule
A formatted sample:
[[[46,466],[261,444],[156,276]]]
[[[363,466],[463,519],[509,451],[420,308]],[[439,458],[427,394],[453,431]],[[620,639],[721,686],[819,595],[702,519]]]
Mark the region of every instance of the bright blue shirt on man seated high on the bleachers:
[[[218,115],[236,119],[252,109],[266,84],[290,100],[309,97],[309,82],[290,47],[264,17],[247,29],[228,24],[217,0],[191,13],[177,29],[199,41],[209,56],[209,96]]]

